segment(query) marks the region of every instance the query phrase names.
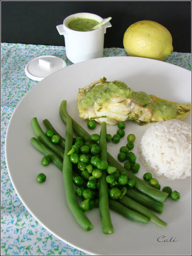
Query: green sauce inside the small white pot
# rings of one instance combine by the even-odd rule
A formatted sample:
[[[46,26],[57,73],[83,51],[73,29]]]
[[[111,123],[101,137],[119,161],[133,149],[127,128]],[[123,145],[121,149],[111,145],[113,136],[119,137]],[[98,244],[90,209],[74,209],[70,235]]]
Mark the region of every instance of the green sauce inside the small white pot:
[[[76,31],[89,31],[91,28],[95,27],[99,22],[93,19],[87,18],[76,18],[68,23],[68,28]]]

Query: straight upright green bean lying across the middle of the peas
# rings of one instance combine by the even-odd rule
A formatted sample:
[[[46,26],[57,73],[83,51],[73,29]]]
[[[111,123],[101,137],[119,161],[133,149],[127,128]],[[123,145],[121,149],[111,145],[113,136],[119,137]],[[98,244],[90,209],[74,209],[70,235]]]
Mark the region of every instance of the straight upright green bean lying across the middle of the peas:
[[[100,140],[99,147],[100,151],[100,159],[101,161],[107,161],[107,128],[106,123],[101,123],[101,131],[100,131]],[[112,234],[113,226],[111,223],[111,217],[109,212],[109,196],[108,196],[108,183],[106,181],[107,172],[103,170],[103,175],[101,176],[100,186],[99,186],[99,212],[101,216],[101,223],[104,234]]]

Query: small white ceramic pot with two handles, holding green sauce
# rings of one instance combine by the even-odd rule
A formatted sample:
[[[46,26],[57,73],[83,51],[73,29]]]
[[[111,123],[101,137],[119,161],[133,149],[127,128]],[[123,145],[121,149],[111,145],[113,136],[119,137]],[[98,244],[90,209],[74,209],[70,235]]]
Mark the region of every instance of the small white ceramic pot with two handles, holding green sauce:
[[[57,26],[59,34],[65,37],[67,58],[72,63],[78,63],[103,57],[104,34],[106,28],[111,27],[111,23],[108,21],[100,28],[91,31],[76,31],[67,27],[68,23],[75,18],[93,19],[98,22],[104,20],[96,14],[80,12],[68,16],[63,24]]]

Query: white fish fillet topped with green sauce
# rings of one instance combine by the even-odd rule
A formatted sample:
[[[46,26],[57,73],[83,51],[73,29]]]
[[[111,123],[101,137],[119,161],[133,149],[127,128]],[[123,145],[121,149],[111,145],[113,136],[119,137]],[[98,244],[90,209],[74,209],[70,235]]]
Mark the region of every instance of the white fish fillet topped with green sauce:
[[[133,120],[139,125],[160,120],[182,120],[190,111],[191,104],[179,104],[134,92],[124,82],[107,82],[106,78],[79,89],[78,109],[83,119],[105,120],[108,124]],[[104,117],[104,119],[102,119]]]

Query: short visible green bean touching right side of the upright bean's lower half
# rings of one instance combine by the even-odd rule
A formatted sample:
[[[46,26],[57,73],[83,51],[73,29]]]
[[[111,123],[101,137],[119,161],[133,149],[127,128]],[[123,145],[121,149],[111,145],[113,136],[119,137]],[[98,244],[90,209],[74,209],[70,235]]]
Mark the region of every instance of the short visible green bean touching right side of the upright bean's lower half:
[[[111,210],[120,213],[121,215],[125,216],[129,220],[134,220],[144,224],[148,223],[147,217],[145,217],[141,213],[135,212],[127,208],[126,206],[120,204],[117,200],[109,199],[109,206]]]

